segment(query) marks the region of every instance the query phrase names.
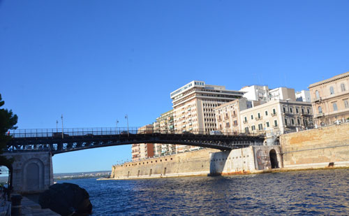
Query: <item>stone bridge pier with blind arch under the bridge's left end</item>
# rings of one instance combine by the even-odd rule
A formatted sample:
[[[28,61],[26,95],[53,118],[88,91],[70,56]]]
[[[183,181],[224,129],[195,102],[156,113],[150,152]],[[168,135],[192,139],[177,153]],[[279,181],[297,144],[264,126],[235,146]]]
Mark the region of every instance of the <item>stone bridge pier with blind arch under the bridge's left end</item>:
[[[50,152],[7,152],[13,162],[13,191],[21,194],[44,192],[53,184]]]

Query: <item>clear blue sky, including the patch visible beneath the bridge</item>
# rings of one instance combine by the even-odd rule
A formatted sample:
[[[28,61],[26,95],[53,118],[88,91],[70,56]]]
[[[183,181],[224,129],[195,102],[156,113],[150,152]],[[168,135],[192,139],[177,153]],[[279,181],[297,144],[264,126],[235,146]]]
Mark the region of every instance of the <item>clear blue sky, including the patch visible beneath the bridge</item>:
[[[191,80],[306,89],[349,71],[349,1],[0,0],[0,93],[20,129],[126,127]],[[53,157],[110,170],[131,145]]]

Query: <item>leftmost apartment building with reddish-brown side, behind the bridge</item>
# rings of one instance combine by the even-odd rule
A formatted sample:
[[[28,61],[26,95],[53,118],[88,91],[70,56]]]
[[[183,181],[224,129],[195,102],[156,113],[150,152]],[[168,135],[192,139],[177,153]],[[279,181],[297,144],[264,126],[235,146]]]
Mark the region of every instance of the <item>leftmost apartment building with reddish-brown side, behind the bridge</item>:
[[[153,133],[153,124],[147,124],[138,129],[138,134],[151,134]],[[153,143],[137,143],[132,144],[132,161],[138,161],[140,159],[146,159],[148,157],[154,157],[154,144]]]

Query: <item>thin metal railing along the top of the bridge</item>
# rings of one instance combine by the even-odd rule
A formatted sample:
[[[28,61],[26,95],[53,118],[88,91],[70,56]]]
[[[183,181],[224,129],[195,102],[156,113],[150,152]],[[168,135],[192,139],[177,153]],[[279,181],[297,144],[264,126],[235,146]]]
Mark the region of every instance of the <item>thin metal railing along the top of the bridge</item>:
[[[31,138],[31,137],[54,137],[64,138],[68,136],[100,136],[100,135],[119,135],[119,134],[202,134],[211,136],[260,136],[265,131],[205,131],[205,129],[196,129],[194,131],[179,130],[161,130],[161,129],[142,129],[142,127],[95,127],[95,128],[66,128],[66,129],[15,129],[8,131],[8,136],[13,138]]]

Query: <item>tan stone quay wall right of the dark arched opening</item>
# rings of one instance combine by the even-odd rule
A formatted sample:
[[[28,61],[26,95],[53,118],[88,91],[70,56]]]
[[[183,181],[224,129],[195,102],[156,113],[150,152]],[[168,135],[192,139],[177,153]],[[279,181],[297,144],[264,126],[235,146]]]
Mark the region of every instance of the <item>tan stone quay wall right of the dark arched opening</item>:
[[[349,124],[321,127],[280,137],[285,168],[349,166]]]

